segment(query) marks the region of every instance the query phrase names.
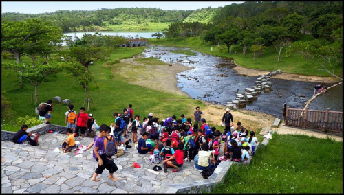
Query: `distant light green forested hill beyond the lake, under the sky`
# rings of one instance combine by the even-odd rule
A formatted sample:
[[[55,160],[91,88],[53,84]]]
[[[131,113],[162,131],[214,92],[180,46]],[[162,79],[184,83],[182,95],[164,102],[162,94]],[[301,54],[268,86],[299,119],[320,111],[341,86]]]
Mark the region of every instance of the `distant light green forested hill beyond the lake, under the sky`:
[[[43,14],[1,14],[1,20],[18,21],[29,18],[46,18],[63,29],[63,32],[116,30],[162,31],[175,22],[198,21],[208,23],[219,8],[200,10],[161,10],[160,8],[102,8],[96,11],[59,10]]]

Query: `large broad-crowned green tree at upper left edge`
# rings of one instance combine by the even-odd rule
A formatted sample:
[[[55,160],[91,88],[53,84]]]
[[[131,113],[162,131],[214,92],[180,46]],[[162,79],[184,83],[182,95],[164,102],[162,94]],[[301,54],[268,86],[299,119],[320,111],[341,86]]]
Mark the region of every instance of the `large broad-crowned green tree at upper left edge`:
[[[48,56],[61,42],[62,32],[59,27],[45,21],[45,19],[28,19],[27,21],[1,21],[1,50],[13,54],[17,63],[21,56]],[[19,87],[23,87],[21,69],[19,71]]]

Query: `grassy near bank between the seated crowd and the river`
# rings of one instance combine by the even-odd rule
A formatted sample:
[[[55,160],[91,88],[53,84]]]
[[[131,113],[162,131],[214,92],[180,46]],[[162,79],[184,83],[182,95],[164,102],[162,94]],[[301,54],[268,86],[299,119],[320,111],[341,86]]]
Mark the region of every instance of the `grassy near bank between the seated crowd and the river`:
[[[170,93],[162,93],[154,91],[149,88],[127,84],[119,76],[113,75],[111,69],[116,72],[116,64],[114,61],[118,58],[131,58],[135,54],[142,53],[144,47],[133,47],[127,51],[125,48],[118,48],[110,59],[106,62],[95,62],[89,67],[96,76],[96,87],[94,82],[89,84],[91,98],[94,99],[96,108],[91,104],[90,111],[94,118],[97,119],[98,124],[110,124],[113,121],[113,113],[122,112],[123,108],[127,108],[129,104],[133,104],[133,111],[143,117],[147,117],[149,113],[154,113],[160,119],[164,119],[171,115],[181,115],[184,113],[187,117],[192,116],[192,111],[196,105],[201,104],[199,100],[193,100],[181,95],[174,95]],[[25,60],[25,58],[23,58]],[[7,60],[9,61],[9,60]],[[14,62],[14,60],[12,60]],[[160,61],[158,61],[160,62]],[[160,65],[157,63],[156,65]],[[6,91],[6,100],[11,102],[12,110],[17,114],[17,117],[36,117],[34,113],[34,105],[31,102],[31,94],[34,93],[34,87],[30,84],[25,84],[24,89],[19,90],[18,79],[13,71],[1,71],[1,88]],[[38,87],[39,103],[45,102],[47,99],[52,99],[54,96],[60,96],[61,99],[70,99],[74,104],[74,108],[79,112],[80,107],[83,106],[83,100],[87,93],[82,87],[74,85],[73,78],[67,73],[58,73],[58,77],[54,82],[43,82]],[[54,102],[54,111],[52,111],[52,124],[65,125],[64,113],[67,111],[65,104]],[[178,105],[178,106],[175,106]],[[87,104],[85,104],[87,108]],[[4,122],[3,124],[7,124]],[[4,130],[16,131],[20,126],[7,125],[3,126]]]

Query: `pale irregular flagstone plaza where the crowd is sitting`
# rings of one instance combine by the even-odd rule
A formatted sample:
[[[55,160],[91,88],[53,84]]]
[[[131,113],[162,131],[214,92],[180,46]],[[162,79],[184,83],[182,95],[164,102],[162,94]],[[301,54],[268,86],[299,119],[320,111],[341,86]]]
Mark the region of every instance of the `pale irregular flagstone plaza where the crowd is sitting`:
[[[131,134],[129,134],[131,137]],[[185,161],[181,170],[167,173],[154,171],[149,161],[149,154],[138,154],[133,143],[129,152],[120,157],[113,157],[118,166],[114,176],[118,181],[107,178],[109,172],[104,170],[98,182],[92,181],[94,170],[98,167],[92,157],[92,150],[76,156],[75,152],[62,154],[54,152],[67,135],[46,133],[39,137],[39,146],[14,144],[12,141],[1,141],[1,192],[2,193],[168,193],[177,192],[179,186],[204,185],[213,183],[213,174],[203,179],[200,170],[193,161]],[[80,144],[88,146],[92,138],[76,138]],[[223,148],[223,146],[222,146]],[[221,148],[221,149],[222,149]],[[222,150],[223,151],[223,150]],[[137,162],[141,168],[133,168]],[[228,162],[222,162],[228,169]],[[158,164],[162,166],[162,163]],[[226,172],[224,172],[226,173]],[[221,177],[222,179],[222,177]],[[217,179],[218,181],[219,179]]]

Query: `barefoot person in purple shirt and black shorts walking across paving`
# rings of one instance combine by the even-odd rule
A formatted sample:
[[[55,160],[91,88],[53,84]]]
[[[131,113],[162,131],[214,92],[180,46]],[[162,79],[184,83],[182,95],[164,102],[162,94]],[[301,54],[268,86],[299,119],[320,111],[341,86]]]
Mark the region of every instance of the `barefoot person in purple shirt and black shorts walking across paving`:
[[[109,126],[102,124],[99,127],[99,133],[96,137],[96,141],[94,141],[93,157],[98,163],[98,168],[96,168],[96,171],[92,176],[92,181],[100,181],[100,179],[97,179],[96,177],[98,174],[102,174],[105,169],[109,170],[109,179],[112,181],[118,180],[118,178],[114,177],[114,172],[116,172],[118,168],[113,161],[106,157],[105,154],[104,137],[107,135],[108,130]]]

